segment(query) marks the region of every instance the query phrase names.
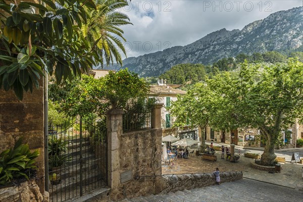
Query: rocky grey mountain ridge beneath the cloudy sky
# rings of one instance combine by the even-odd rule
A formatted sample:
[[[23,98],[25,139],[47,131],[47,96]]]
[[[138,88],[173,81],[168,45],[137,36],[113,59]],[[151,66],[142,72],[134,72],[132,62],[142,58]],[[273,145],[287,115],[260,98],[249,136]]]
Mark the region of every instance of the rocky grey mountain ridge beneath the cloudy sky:
[[[295,51],[303,41],[303,7],[271,14],[263,20],[246,25],[242,30],[212,32],[185,46],[174,46],[164,51],[123,60],[123,68],[140,76],[158,76],[181,63],[211,64],[221,58],[240,53],[267,51]],[[119,69],[112,66],[111,69]]]

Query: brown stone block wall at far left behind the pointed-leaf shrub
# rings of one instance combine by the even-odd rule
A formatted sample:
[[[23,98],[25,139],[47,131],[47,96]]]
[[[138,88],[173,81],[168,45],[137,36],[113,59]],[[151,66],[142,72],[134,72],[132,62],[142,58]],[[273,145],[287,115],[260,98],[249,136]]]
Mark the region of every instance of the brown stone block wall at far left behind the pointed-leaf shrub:
[[[24,93],[22,102],[12,90],[0,89],[0,153],[14,147],[16,141],[23,137],[31,151],[38,149],[36,158],[39,168],[38,180],[40,190],[44,192],[44,112],[43,86],[33,88],[33,93]]]

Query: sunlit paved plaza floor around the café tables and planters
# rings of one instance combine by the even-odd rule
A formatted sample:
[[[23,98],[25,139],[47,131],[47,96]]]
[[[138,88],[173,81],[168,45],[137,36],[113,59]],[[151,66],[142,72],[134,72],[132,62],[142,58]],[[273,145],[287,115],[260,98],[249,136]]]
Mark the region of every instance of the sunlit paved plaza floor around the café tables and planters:
[[[250,162],[254,159],[246,158],[240,155],[237,163],[232,163],[221,159],[221,151],[216,151],[218,158],[216,162],[201,160],[201,157],[189,157],[189,159],[177,159],[174,161],[174,166],[162,164],[162,175],[165,174],[185,174],[185,173],[209,173],[215,171],[218,167],[221,172],[242,171],[244,178],[264,181],[272,184],[277,184],[285,187],[290,187],[297,190],[303,190],[302,181],[302,164],[295,163],[280,163],[281,173],[268,173],[252,169]]]

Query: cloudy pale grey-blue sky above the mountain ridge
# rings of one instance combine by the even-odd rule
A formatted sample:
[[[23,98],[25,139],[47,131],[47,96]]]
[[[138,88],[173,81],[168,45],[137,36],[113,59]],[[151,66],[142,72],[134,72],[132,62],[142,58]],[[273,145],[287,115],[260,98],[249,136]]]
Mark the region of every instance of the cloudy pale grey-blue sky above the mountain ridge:
[[[187,45],[222,28],[242,29],[272,13],[299,6],[301,0],[132,0],[120,10],[133,23],[122,27],[127,39],[124,46],[127,57],[137,57]]]

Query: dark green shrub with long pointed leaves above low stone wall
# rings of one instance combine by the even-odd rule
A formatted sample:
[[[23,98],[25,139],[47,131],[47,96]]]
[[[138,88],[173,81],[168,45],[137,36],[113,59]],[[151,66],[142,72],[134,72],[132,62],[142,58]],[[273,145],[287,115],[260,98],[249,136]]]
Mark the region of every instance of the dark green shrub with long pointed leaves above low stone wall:
[[[13,149],[4,150],[0,154],[0,185],[15,179],[28,180],[31,170],[38,170],[33,164],[39,155],[38,150],[31,153],[28,144],[22,144],[22,138],[19,138]]]

